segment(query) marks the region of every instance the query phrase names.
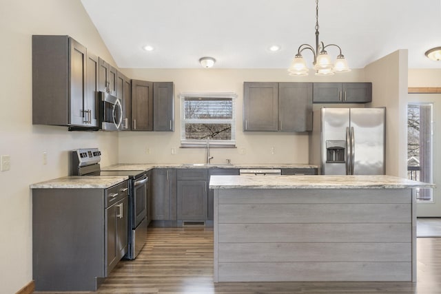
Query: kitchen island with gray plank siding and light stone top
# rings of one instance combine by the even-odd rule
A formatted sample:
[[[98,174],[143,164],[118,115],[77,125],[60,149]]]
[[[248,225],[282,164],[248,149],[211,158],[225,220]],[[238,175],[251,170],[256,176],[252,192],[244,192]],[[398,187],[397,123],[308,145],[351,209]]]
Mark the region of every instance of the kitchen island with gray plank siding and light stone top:
[[[212,176],[214,282],[416,281],[416,188],[393,176]]]

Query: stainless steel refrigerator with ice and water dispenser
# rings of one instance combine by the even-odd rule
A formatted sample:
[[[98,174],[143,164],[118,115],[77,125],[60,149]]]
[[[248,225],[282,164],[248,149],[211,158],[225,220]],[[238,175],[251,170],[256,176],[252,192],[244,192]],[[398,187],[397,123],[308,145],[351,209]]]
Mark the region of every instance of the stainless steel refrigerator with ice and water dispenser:
[[[384,174],[385,122],[384,107],[315,111],[309,163],[325,175]]]

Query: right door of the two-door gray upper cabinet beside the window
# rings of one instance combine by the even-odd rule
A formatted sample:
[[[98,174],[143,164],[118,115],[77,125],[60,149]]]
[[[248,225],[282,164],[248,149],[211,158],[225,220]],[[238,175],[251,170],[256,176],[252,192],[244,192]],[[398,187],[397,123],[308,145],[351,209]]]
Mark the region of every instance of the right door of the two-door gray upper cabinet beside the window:
[[[281,132],[312,130],[312,83],[278,83]]]

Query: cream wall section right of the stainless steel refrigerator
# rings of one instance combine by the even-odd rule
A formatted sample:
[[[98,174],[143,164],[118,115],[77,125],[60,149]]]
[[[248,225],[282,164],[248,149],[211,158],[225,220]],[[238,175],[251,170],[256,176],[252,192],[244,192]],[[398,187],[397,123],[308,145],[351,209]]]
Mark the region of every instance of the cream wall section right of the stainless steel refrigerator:
[[[407,177],[407,50],[365,67],[372,82],[371,107],[386,107],[386,174]]]

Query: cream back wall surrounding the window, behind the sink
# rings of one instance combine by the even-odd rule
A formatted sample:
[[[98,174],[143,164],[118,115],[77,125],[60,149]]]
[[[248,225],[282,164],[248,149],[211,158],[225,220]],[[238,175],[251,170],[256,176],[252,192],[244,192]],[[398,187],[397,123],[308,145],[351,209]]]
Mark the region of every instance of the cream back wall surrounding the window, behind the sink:
[[[308,163],[307,133],[243,132],[243,82],[293,82],[293,81],[365,81],[362,70],[339,74],[331,78],[310,76],[296,78],[287,70],[158,70],[122,69],[131,78],[146,81],[173,81],[175,85],[175,132],[120,132],[119,160],[127,163],[145,162],[205,162],[205,149],[183,149],[181,136],[181,92],[235,92],[236,99],[236,149],[212,149],[212,163]],[[271,154],[275,147],[275,154]],[[150,154],[145,149],[150,148]],[[171,149],[176,154],[171,154]],[[245,154],[239,154],[240,149]]]

